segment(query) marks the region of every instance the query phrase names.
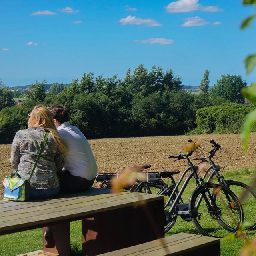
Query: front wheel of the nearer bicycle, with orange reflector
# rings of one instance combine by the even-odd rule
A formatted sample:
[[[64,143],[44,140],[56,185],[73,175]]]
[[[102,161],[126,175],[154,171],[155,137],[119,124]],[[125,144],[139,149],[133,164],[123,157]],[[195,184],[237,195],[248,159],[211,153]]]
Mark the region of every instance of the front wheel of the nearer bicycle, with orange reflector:
[[[196,188],[189,202],[192,222],[196,229],[204,236],[216,238],[228,236],[230,232],[236,233],[243,221],[243,210],[238,198],[220,184],[208,183],[206,186],[212,194],[217,209],[212,208],[213,202],[210,202],[209,207],[204,198],[196,207],[200,197],[206,196],[209,200],[203,185]],[[227,196],[232,199],[232,203],[228,202]]]

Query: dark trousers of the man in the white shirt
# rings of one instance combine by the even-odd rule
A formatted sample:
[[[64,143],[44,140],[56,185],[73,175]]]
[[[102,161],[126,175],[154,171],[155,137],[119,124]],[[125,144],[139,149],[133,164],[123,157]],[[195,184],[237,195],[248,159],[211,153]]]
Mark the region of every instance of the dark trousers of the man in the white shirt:
[[[88,190],[94,183],[94,179],[86,180],[85,178],[71,175],[68,171],[57,172],[60,179],[60,192],[83,192]]]

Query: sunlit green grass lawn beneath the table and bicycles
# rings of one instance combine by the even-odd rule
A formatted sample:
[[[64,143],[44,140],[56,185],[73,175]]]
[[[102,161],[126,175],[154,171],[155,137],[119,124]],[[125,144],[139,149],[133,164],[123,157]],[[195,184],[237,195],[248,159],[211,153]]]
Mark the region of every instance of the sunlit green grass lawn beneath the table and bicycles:
[[[225,178],[234,179],[242,181],[246,184],[250,184],[252,177],[256,174],[256,169],[249,171],[248,169],[243,169],[239,171],[229,171],[225,174]],[[193,191],[195,185],[194,180],[190,181],[188,187],[184,192],[182,197],[184,202],[189,198],[190,193]],[[172,227],[172,229],[166,235],[172,235],[179,232],[194,233],[198,234],[198,231],[192,224],[192,222],[184,222],[178,217],[177,223]],[[104,228],[104,227],[103,227]],[[72,256],[82,255],[82,223],[81,221],[71,222],[71,247]],[[247,232],[248,238],[252,238],[256,235],[256,231]],[[244,245],[244,240],[241,238],[236,238],[233,241],[222,241],[221,242],[221,255],[222,256],[238,256],[242,246]],[[22,254],[26,252],[32,252],[35,250],[40,250],[42,248],[42,229],[29,230],[24,232],[19,232],[15,234],[8,234],[0,236],[0,256],[15,256],[17,254]]]

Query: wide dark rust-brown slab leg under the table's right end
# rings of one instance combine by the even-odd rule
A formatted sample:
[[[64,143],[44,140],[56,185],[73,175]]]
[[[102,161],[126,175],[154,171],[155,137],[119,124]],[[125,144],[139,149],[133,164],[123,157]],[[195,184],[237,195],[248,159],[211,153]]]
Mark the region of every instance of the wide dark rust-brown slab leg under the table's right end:
[[[82,220],[83,256],[94,256],[164,237],[164,201],[129,206]]]

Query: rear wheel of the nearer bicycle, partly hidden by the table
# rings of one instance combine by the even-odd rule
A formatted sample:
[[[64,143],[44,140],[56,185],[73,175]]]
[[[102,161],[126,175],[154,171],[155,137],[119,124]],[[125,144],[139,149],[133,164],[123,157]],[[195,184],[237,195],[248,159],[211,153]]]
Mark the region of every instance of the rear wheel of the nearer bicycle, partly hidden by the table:
[[[147,188],[148,186],[148,188]],[[172,190],[168,190],[165,192],[166,188],[168,188],[168,185],[163,183],[147,183],[144,186],[141,186],[138,192],[147,193],[147,194],[156,194],[156,195],[162,195],[164,196],[164,204],[169,200]],[[170,200],[170,204],[174,202],[173,199]],[[168,211],[170,209],[170,206],[166,206],[164,208],[164,232],[168,232],[172,226],[175,224],[177,219],[177,214],[170,214]]]

